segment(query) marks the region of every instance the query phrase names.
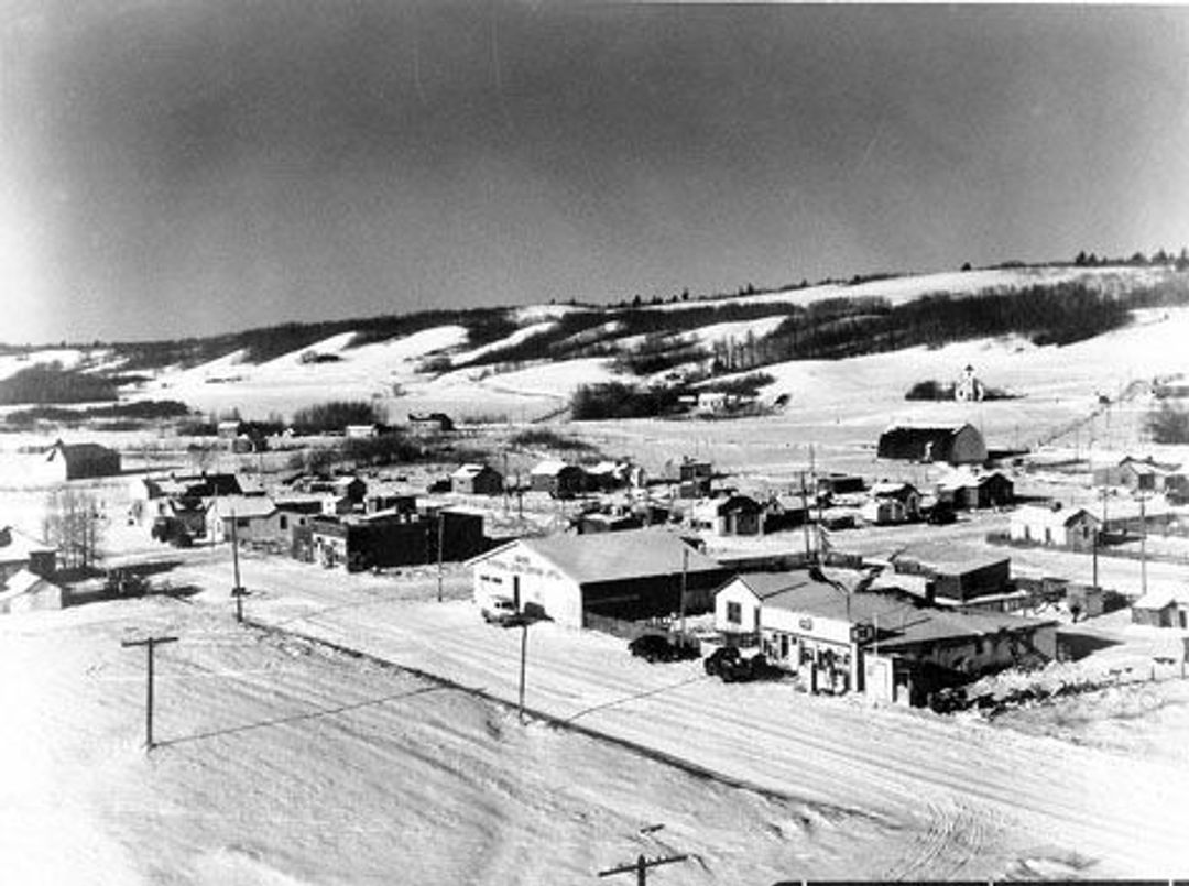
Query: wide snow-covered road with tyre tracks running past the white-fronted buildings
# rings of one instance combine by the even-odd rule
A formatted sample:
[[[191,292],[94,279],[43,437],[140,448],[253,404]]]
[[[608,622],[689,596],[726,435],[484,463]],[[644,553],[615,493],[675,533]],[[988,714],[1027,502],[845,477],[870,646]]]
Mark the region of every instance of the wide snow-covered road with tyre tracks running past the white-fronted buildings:
[[[483,624],[468,602],[396,599],[375,577],[301,564],[254,566],[252,618],[515,702],[520,631]],[[177,574],[229,585],[226,564]],[[649,666],[622,641],[552,624],[531,628],[528,643],[531,709],[900,831],[899,854],[869,875],[1184,873],[1189,773],[1166,762],[788,685],[729,686],[698,662]]]

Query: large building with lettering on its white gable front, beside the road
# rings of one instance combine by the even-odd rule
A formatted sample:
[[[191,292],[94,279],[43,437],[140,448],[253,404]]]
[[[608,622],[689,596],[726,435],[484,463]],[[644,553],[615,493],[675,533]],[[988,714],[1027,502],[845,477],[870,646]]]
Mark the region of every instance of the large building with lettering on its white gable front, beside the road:
[[[470,561],[480,605],[508,597],[560,624],[591,627],[598,616],[638,621],[681,609],[705,612],[729,571],[662,529],[518,539]]]

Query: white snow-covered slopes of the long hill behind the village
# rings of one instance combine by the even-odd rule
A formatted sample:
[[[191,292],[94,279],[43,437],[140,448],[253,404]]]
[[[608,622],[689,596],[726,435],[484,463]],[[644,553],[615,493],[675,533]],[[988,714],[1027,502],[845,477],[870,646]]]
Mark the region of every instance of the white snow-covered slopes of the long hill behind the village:
[[[195,365],[136,370],[147,379],[125,385],[121,396],[180,400],[203,411],[234,407],[247,417],[291,415],[312,403],[354,398],[384,407],[392,421],[427,409],[464,419],[531,420],[556,413],[581,384],[611,379],[638,383],[673,371],[704,372],[707,356],[762,341],[788,312],[828,301],[879,299],[887,306],[904,306],[937,294],[961,299],[1058,284],[1126,295],[1169,283],[1184,288],[1184,274],[1165,268],[1012,268],[672,301],[646,304],[636,312],[539,304],[504,312],[499,334],[478,343],[464,320],[357,346],[357,334],[372,332],[360,323],[360,328],[336,332],[260,362],[252,359],[252,348],[245,345]],[[775,379],[765,390],[767,397],[787,395],[794,410],[829,408],[851,417],[872,410],[883,416],[881,421],[911,417],[913,404],[904,401],[904,394],[912,384],[927,378],[952,381],[967,364],[974,365],[987,384],[1019,394],[1030,404],[1071,398],[1081,408],[1100,394],[1120,391],[1135,378],[1189,370],[1179,345],[1187,332],[1184,308],[1147,309],[1133,312],[1126,328],[1064,347],[1038,347],[1023,337],[1008,335],[833,360],[760,360],[757,369]],[[616,362],[646,343],[662,343],[663,347],[666,341],[690,350],[693,362],[678,363],[647,378],[624,375]],[[0,357],[0,378],[50,360],[122,371],[126,354],[119,348],[7,354]],[[744,365],[751,363],[754,356]],[[937,409],[930,404],[926,411],[936,414]]]

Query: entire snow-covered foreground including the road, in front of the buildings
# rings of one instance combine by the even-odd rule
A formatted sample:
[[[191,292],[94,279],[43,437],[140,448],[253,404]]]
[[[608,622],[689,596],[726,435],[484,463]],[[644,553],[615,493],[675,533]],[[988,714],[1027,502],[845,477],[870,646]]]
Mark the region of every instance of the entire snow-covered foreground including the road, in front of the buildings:
[[[520,631],[479,620],[464,573],[439,603],[432,573],[249,558],[264,629],[234,623],[227,559],[180,555],[190,597],[0,622],[6,881],[591,882],[638,853],[692,854],[649,878],[686,884],[1185,873],[1171,672],[988,723],[539,624],[521,723]],[[120,640],[149,633],[180,641],[146,755],[144,653]]]

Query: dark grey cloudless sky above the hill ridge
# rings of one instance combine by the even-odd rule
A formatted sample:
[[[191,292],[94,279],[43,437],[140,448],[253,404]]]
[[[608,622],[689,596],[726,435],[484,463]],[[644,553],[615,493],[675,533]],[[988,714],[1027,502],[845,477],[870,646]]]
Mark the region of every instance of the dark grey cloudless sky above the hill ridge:
[[[0,343],[1189,244],[1189,7],[0,0]]]

